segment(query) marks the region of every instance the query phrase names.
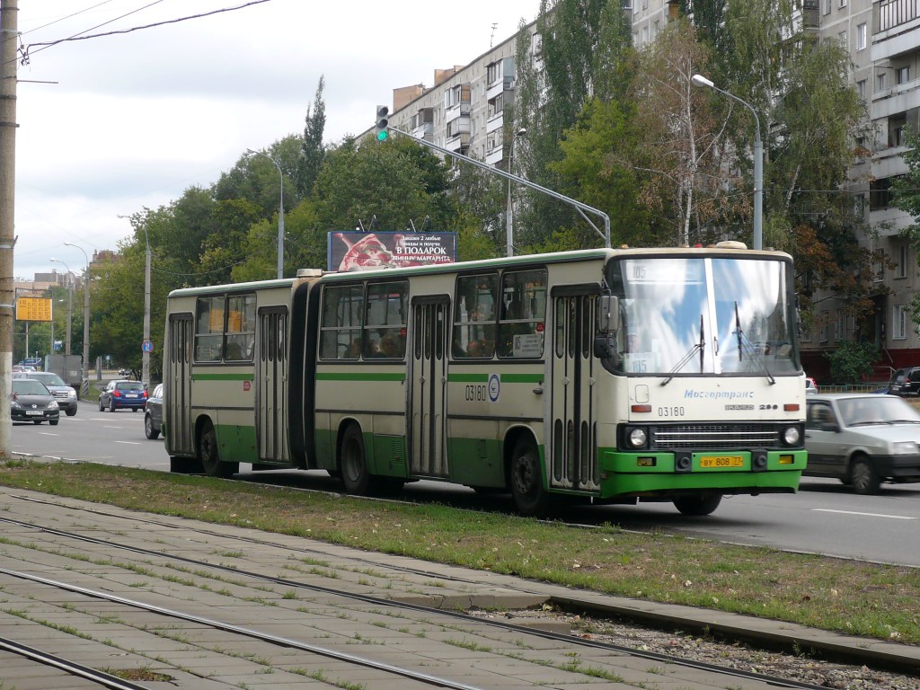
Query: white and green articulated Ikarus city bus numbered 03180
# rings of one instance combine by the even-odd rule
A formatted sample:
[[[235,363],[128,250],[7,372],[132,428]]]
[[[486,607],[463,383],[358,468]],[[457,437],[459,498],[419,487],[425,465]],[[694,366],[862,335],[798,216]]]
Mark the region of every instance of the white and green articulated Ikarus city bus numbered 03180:
[[[794,492],[804,374],[791,259],[592,249],[170,293],[171,469],[325,469],[568,500]]]

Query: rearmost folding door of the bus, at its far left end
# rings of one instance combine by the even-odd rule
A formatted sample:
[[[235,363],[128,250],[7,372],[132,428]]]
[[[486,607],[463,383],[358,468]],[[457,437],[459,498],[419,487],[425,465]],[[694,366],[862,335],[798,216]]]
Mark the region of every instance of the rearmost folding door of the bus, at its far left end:
[[[169,316],[166,391],[163,422],[166,427],[167,453],[194,455],[195,438],[191,427],[191,347],[194,324],[190,314]]]

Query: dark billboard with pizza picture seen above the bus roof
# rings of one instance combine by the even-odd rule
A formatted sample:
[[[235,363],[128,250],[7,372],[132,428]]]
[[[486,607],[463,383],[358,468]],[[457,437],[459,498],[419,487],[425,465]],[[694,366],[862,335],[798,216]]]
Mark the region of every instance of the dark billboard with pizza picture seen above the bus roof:
[[[329,233],[327,257],[338,271],[454,263],[456,233]]]

